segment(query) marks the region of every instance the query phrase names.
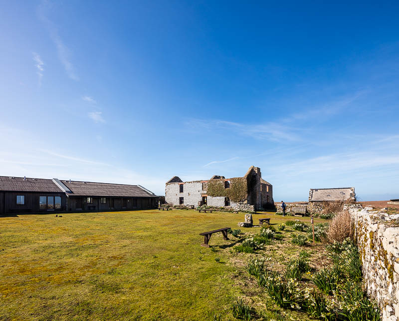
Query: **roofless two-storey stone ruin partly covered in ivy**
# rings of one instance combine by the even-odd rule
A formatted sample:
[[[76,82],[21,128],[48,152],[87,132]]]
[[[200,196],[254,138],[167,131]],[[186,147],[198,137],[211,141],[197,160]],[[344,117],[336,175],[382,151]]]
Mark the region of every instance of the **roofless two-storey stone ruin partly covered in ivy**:
[[[208,180],[183,182],[178,176],[165,186],[165,201],[172,205],[231,207],[255,211],[273,205],[273,187],[251,166],[243,177],[214,175]]]

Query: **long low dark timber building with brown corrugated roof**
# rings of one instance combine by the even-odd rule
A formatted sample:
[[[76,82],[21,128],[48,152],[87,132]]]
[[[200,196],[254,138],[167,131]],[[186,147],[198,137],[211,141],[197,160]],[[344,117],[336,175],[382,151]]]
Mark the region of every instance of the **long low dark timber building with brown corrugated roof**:
[[[0,176],[0,214],[141,210],[157,202],[140,185]]]

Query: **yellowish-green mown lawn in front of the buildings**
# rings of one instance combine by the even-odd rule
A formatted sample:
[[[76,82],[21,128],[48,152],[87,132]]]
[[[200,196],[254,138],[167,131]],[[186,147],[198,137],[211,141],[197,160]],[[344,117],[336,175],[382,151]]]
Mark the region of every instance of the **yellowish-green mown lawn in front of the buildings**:
[[[201,232],[237,228],[243,213],[62,216],[0,218],[0,320],[231,320],[231,303],[251,295],[240,279],[251,255],[231,251],[240,238],[224,241],[217,233],[209,241],[215,252],[200,247]],[[272,224],[293,219],[253,217],[255,224],[257,217]],[[283,265],[298,248],[277,244],[266,252]]]

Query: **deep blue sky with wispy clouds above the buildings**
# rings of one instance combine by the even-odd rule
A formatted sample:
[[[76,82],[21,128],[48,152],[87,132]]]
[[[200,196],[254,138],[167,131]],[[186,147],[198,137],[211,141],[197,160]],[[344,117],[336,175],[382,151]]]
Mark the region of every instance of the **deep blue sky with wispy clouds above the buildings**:
[[[0,175],[399,198],[397,1],[0,5]]]

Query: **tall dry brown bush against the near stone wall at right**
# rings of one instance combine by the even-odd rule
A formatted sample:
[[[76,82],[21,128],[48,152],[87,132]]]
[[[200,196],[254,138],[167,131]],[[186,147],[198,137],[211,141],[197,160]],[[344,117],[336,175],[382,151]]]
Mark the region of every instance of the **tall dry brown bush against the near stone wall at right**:
[[[354,225],[351,214],[348,211],[341,211],[332,220],[327,231],[327,241],[342,242],[346,238],[353,239]]]

